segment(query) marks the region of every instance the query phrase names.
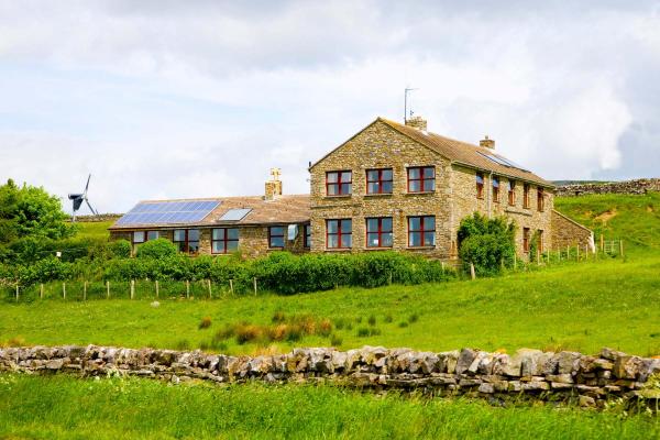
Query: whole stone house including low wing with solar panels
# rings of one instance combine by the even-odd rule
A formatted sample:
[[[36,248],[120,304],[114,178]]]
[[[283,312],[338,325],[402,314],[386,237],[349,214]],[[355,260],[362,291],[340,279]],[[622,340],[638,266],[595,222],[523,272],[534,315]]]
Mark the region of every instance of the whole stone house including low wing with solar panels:
[[[309,173],[309,196],[284,196],[275,170],[263,197],[144,201],[111,235],[134,246],[165,237],[182,251],[205,254],[396,250],[455,258],[459,224],[476,211],[515,220],[519,255],[532,238],[542,251],[593,246],[588,229],[554,211],[550,182],[497,154],[487,136],[479,145],[455,141],[428,132],[419,117],[405,124],[377,118]],[[189,211],[195,206],[176,204],[205,201],[197,217],[154,207]],[[165,215],[150,216],[152,208]],[[135,217],[141,213],[147,217]]]

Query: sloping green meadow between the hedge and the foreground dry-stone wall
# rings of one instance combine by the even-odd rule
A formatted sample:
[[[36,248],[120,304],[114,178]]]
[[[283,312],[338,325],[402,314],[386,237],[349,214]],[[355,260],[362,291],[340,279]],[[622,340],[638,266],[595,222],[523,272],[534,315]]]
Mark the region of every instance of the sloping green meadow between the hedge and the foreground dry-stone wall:
[[[157,308],[144,299],[6,302],[0,307],[0,341],[194,349],[210,345],[227,324],[273,324],[282,311],[287,317],[329,318],[333,330],[327,337],[273,345],[258,340],[239,344],[230,337],[218,350],[287,351],[331,345],[334,336],[341,349],[378,344],[512,352],[529,346],[595,353],[606,345],[656,355],[660,354],[658,273],[660,255],[573,263],[475,282],[340,288],[293,297],[161,300]],[[206,316],[211,326],[199,329]],[[372,316],[374,326],[369,323]],[[361,328],[377,331],[360,332]]]

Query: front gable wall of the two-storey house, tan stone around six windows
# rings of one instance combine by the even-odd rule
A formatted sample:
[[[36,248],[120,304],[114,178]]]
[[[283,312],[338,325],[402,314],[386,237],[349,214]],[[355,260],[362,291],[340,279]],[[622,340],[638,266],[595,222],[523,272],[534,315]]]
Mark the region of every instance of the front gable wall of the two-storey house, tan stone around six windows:
[[[407,167],[435,166],[436,190],[408,194]],[[393,168],[393,194],[367,195],[366,169]],[[326,172],[352,170],[350,196],[326,196]],[[328,154],[311,169],[311,251],[374,252],[366,248],[366,218],[392,217],[393,250],[447,258],[451,254],[451,165],[437,153],[376,122]],[[436,216],[436,245],[408,248],[408,216]],[[352,250],[326,249],[326,220],[353,220]]]

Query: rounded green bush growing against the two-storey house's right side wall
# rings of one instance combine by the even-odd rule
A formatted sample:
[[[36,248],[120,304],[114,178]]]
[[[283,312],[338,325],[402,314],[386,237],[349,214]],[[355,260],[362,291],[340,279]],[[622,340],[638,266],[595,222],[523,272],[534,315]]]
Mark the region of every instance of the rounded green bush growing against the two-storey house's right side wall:
[[[513,265],[516,253],[515,223],[504,217],[488,219],[475,212],[459,227],[459,256],[465,271],[474,264],[477,275],[495,275]]]

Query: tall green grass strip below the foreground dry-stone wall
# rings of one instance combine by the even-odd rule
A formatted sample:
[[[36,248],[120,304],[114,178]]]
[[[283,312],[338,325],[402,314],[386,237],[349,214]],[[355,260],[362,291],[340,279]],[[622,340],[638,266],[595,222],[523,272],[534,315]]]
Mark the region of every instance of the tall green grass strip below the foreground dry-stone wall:
[[[616,409],[616,408],[615,408]],[[166,386],[0,376],[0,437],[31,439],[651,439],[658,418],[376,396],[330,386]]]

